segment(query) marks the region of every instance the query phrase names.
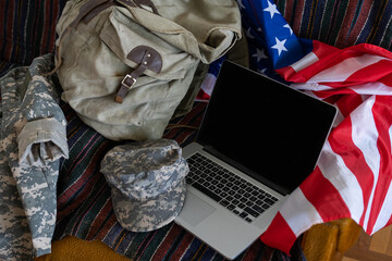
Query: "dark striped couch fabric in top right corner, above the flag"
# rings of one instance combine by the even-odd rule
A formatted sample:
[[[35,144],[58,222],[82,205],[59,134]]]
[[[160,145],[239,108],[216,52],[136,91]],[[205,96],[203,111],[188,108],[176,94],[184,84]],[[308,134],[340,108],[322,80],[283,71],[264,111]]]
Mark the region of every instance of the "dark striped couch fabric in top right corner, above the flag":
[[[275,0],[303,38],[344,48],[369,42],[392,49],[392,2],[388,0]]]

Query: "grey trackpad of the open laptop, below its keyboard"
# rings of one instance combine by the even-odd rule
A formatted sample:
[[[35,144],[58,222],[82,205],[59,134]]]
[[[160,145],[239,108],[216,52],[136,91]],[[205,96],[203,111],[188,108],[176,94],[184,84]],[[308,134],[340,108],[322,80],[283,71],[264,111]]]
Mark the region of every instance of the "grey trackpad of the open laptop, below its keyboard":
[[[198,211],[192,211],[191,208]],[[212,214],[213,211],[216,211],[216,209],[212,206],[188,191],[186,194],[185,203],[180,215],[184,221],[193,226],[196,226],[207,216]]]

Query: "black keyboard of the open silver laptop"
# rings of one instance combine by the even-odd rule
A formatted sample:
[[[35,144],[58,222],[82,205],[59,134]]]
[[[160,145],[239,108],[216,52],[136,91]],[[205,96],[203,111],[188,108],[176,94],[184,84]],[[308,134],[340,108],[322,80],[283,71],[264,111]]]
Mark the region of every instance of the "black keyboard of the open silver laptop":
[[[187,162],[191,170],[186,176],[187,184],[247,222],[278,201],[272,195],[198,152],[189,157]]]

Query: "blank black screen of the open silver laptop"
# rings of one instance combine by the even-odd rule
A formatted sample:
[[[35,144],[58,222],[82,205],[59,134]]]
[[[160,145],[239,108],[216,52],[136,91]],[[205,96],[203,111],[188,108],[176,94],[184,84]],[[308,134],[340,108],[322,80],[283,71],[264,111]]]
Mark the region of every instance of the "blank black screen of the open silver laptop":
[[[224,62],[198,141],[282,194],[314,170],[335,108]]]

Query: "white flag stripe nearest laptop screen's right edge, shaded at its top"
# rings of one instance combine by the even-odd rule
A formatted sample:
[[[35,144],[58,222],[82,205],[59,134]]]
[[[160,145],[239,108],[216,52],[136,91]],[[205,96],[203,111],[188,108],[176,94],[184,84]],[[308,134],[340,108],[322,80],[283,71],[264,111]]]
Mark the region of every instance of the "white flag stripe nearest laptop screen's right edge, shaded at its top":
[[[364,211],[363,190],[356,176],[345,165],[343,159],[333,152],[329,141],[322,148],[318,162],[322,175],[329,179],[340,192],[347,206],[351,217],[359,223]]]

